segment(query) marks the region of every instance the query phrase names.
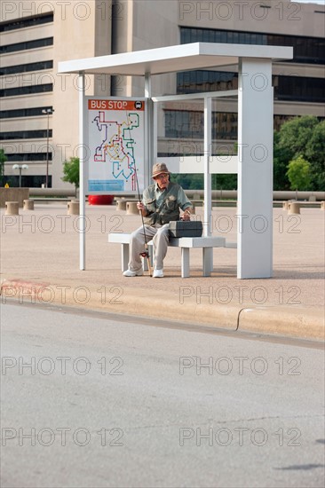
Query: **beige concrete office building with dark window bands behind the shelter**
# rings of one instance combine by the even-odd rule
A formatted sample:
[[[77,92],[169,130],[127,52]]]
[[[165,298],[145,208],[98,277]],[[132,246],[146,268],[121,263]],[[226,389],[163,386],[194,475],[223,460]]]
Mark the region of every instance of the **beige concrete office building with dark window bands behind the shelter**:
[[[1,4],[0,146],[14,163],[28,164],[23,185],[64,187],[62,163],[78,156],[77,76],[59,75],[59,61],[193,43],[293,45],[291,62],[273,64],[274,127],[303,114],[325,117],[325,8],[283,0],[10,0]],[[234,90],[236,67],[153,78],[155,95]],[[142,79],[87,76],[87,94],[144,95]],[[213,139],[234,147],[237,102],[223,98],[213,112]],[[190,145],[190,148],[188,149]],[[161,104],[158,152],[186,146],[202,151],[202,105]],[[15,176],[16,179],[18,176]]]

